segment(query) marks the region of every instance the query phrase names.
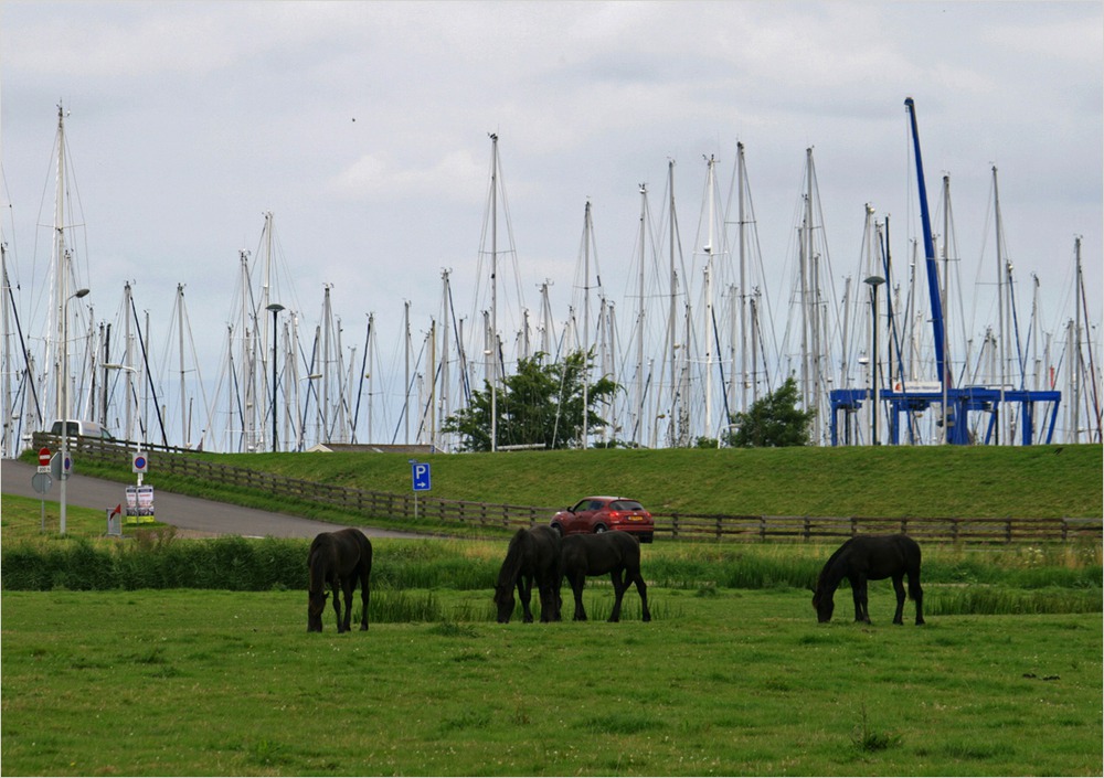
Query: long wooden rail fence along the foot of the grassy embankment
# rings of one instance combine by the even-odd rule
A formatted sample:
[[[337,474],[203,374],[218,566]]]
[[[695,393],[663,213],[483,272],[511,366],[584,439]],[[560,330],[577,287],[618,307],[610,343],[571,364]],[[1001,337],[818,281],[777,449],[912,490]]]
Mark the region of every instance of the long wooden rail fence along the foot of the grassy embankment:
[[[56,447],[59,438],[34,436],[34,447]],[[70,448],[78,460],[129,468],[134,450],[96,438],[70,438]],[[153,448],[153,447],[149,447]],[[342,511],[372,518],[413,519],[415,498],[365,489],[305,481],[261,472],[232,465],[216,465],[183,449],[157,447],[156,467],[164,472],[206,483],[263,491],[293,502],[321,503]],[[519,527],[544,524],[554,508],[508,505],[421,495],[417,516],[448,524],[464,523],[481,527]],[[904,533],[916,540],[944,543],[1071,542],[1104,539],[1101,519],[1028,518],[905,518],[867,516],[763,516],[704,513],[656,513],[656,536],[688,541],[820,541],[846,539],[858,534]]]

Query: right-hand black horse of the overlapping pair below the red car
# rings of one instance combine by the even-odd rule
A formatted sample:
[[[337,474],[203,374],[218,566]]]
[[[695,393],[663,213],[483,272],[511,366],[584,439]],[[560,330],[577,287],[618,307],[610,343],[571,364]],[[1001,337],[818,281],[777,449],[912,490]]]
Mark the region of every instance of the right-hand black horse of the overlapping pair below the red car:
[[[640,593],[644,620],[651,621],[648,610],[648,587],[640,575],[640,541],[627,532],[603,532],[596,535],[567,535],[563,539],[563,573],[575,595],[575,620],[586,621],[583,608],[583,584],[588,575],[605,575],[614,583],[614,609],[611,621],[620,619],[622,597],[629,584]]]

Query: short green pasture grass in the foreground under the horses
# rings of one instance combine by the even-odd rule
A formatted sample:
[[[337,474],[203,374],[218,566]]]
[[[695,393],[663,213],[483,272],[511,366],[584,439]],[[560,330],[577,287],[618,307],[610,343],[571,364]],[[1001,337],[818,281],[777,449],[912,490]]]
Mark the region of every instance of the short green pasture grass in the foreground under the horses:
[[[296,592],[3,594],[7,775],[1100,775],[1100,614],[818,625],[652,588],[655,620],[306,632]],[[381,598],[386,595],[381,593]],[[588,587],[601,612],[612,593]],[[910,606],[911,609],[911,606]],[[374,610],[374,608],[373,608]],[[882,618],[879,618],[881,616]]]

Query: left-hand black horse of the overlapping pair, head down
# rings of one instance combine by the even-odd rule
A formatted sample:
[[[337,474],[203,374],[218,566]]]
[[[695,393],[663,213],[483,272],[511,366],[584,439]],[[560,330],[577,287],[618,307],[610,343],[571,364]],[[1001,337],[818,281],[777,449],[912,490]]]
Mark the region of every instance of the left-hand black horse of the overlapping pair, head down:
[[[550,526],[521,529],[513,533],[506,559],[495,584],[498,622],[509,624],[513,615],[513,587],[518,587],[524,621],[533,620],[529,600],[533,582],[541,598],[541,621],[560,620],[560,533]]]

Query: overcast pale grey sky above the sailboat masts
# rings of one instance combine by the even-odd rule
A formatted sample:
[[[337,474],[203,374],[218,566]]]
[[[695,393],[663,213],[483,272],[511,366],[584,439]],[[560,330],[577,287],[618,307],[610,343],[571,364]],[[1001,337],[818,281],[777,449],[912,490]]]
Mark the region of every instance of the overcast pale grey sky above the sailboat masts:
[[[390,352],[403,300],[415,332],[437,316],[444,268],[468,316],[486,285],[489,132],[534,310],[550,279],[566,315],[587,199],[606,294],[624,300],[639,184],[658,213],[668,160],[693,253],[703,158],[726,188],[737,140],[771,294],[790,283],[809,147],[832,273],[854,276],[867,203],[891,215],[898,256],[919,236],[906,96],[933,209],[952,177],[965,306],[995,275],[997,166],[1009,257],[1025,288],[1038,275],[1044,326],[1073,316],[1075,235],[1101,320],[1100,2],[7,0],[0,56],[3,239],[30,326],[44,320],[59,102],[97,318],[130,280],[159,342],[184,284],[215,360],[238,251],[256,253],[267,211],[274,297],[311,327],[330,284],[347,344],[372,311]]]

